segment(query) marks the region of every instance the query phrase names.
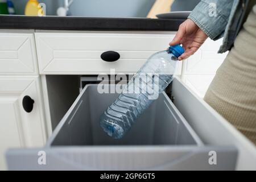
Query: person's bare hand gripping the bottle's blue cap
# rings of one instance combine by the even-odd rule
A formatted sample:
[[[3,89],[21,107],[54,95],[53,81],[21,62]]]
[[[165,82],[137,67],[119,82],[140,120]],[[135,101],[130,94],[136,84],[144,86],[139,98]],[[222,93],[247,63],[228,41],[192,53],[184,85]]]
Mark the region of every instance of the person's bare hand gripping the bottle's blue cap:
[[[187,19],[180,24],[177,34],[169,45],[175,46],[176,44],[182,44],[185,52],[178,59],[183,60],[193,55],[207,38],[207,34],[196,23],[191,19]]]

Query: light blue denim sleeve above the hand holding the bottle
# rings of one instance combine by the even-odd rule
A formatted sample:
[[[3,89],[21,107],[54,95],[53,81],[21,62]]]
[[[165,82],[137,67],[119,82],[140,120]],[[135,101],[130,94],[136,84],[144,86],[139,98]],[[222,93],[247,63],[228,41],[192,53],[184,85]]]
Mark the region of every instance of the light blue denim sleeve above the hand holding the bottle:
[[[202,0],[188,18],[193,20],[210,39],[217,40],[224,35],[232,5],[233,0]]]

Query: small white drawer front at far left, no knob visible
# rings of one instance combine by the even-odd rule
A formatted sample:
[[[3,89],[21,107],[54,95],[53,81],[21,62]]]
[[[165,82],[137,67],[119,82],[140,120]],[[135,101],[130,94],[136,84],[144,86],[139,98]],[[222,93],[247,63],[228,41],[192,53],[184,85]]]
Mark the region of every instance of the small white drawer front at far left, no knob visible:
[[[0,75],[38,73],[34,35],[0,33]]]

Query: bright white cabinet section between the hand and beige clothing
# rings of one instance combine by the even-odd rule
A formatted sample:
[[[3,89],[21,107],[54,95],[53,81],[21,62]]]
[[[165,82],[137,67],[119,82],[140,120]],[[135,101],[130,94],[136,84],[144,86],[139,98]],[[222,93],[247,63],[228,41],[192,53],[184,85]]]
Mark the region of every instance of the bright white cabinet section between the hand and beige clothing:
[[[228,55],[228,52],[217,53],[221,44],[222,39],[207,39],[194,55],[183,60],[181,78],[200,97],[204,97],[218,67]]]

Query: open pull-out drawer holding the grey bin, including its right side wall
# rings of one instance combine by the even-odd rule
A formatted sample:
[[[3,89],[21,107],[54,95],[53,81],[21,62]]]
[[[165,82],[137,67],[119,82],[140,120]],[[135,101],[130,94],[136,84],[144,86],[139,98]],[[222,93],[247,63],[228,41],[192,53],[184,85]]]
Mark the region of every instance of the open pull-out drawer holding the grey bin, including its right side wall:
[[[174,102],[160,94],[115,140],[101,130],[99,117],[117,94],[86,85],[46,147],[7,152],[9,169],[256,169],[254,145],[177,77],[170,94]]]

